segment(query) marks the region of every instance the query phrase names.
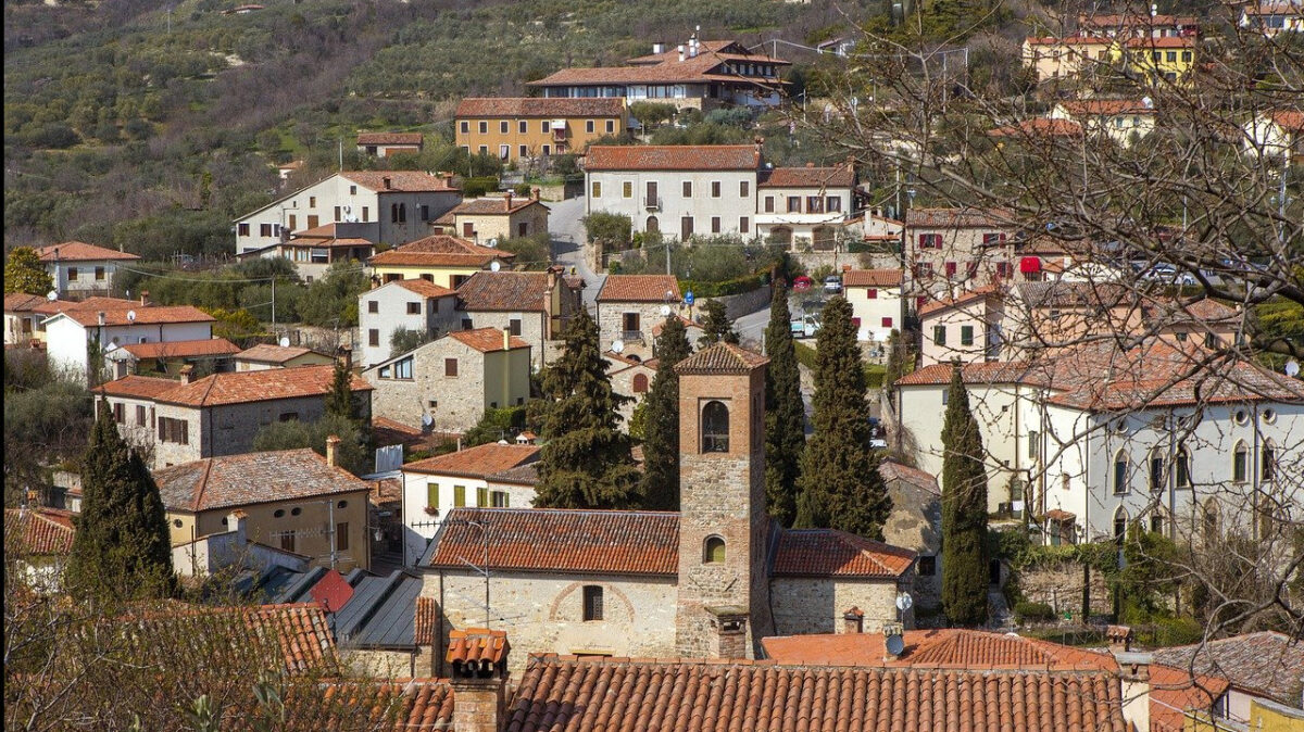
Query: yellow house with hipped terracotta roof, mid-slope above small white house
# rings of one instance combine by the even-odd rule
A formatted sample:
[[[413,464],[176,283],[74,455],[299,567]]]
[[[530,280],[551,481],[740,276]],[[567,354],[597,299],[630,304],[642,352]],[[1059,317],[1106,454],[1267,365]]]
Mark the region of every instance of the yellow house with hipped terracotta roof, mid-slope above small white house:
[[[421,279],[458,289],[471,275],[510,267],[515,258],[510,251],[480,246],[455,236],[433,234],[382,251],[366,263],[372,267],[372,277],[382,283]]]

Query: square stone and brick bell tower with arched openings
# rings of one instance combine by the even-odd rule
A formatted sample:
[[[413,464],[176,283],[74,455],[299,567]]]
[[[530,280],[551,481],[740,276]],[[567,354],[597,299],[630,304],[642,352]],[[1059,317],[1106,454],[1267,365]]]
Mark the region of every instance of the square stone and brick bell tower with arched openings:
[[[772,633],[765,513],[765,363],[730,344],[679,374],[679,586],[675,651],[755,658]]]

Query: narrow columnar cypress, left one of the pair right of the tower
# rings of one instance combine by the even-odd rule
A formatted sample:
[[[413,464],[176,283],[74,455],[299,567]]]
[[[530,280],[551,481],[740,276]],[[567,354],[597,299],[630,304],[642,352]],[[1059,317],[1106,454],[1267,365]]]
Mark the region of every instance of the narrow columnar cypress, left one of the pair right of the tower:
[[[806,448],[806,405],[789,326],[788,288],[775,284],[765,328],[765,504],[784,526],[797,517],[797,478]]]

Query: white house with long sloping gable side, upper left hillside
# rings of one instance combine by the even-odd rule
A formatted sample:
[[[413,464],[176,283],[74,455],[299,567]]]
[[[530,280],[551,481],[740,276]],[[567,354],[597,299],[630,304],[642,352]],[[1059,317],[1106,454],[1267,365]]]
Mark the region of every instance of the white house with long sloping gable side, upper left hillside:
[[[349,236],[396,246],[429,234],[429,223],[460,201],[451,173],[343,171],[236,219],[236,254],[340,223],[370,224]]]

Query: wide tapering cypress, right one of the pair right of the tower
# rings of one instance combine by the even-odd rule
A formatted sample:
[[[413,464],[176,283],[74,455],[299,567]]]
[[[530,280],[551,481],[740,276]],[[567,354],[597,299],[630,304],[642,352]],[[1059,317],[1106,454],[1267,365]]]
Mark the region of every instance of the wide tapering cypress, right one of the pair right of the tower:
[[[882,539],[892,499],[870,448],[865,370],[846,298],[824,307],[815,350],[815,432],[802,456],[797,525]]]

